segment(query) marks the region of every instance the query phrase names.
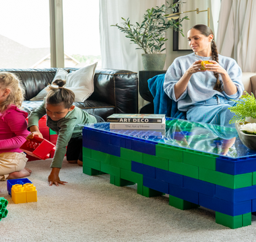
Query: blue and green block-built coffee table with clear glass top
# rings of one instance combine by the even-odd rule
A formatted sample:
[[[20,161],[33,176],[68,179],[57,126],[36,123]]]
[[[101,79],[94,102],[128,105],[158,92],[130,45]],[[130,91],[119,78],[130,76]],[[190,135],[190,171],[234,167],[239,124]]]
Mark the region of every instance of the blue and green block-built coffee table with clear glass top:
[[[166,119],[166,132],[110,130],[109,123],[83,128],[84,173],[110,174],[116,186],[137,184],[143,196],[169,194],[185,210],[216,211],[216,223],[251,225],[256,212],[256,152],[235,128]]]

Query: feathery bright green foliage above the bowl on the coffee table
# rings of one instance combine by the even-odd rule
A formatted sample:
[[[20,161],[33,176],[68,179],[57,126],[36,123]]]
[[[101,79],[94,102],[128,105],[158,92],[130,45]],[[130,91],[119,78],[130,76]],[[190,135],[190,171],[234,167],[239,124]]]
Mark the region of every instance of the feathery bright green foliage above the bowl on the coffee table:
[[[240,99],[233,100],[236,106],[228,108],[235,116],[229,121],[230,124],[234,122],[245,122],[245,118],[256,118],[256,99],[253,93],[251,95],[245,92]]]

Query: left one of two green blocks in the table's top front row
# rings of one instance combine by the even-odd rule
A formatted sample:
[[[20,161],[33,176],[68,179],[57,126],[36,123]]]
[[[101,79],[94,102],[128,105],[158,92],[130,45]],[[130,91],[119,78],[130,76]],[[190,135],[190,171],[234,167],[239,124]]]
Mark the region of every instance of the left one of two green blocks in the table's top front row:
[[[183,149],[179,147],[170,147],[170,145],[156,145],[156,156],[171,161],[183,162]]]

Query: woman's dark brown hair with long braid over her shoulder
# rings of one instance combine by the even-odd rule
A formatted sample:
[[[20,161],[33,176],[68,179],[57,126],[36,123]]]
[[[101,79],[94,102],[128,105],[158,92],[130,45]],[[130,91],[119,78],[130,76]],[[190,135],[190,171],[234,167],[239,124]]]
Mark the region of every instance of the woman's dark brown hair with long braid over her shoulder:
[[[210,34],[214,35],[214,32],[212,32],[212,30],[208,26],[205,26],[204,24],[197,24],[193,26],[191,29],[199,30],[199,32],[206,37],[208,37]],[[211,48],[212,48],[212,60],[215,60],[217,63],[219,63],[218,50],[217,50],[217,46],[214,39],[211,42]],[[214,90],[221,92],[222,83],[220,83],[220,75],[219,73],[214,73],[214,76],[217,79],[216,84],[214,86]]]

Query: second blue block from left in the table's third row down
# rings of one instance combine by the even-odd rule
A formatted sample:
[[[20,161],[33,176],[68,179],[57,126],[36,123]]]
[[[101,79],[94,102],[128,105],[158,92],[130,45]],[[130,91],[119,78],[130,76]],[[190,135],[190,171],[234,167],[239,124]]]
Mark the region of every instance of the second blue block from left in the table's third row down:
[[[183,187],[183,175],[156,168],[156,179],[167,182],[169,184]]]

